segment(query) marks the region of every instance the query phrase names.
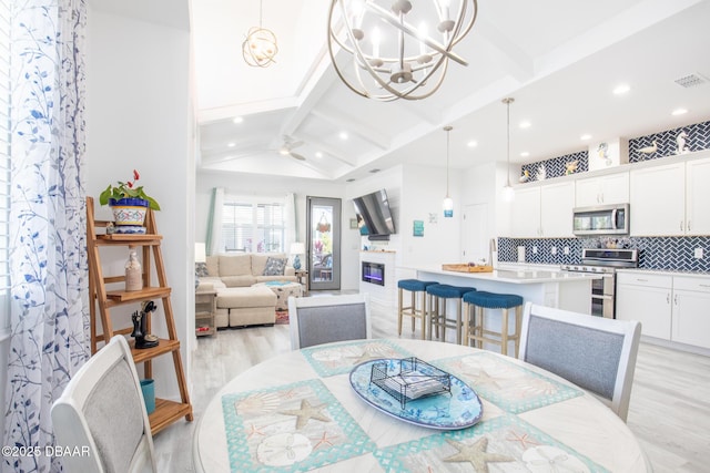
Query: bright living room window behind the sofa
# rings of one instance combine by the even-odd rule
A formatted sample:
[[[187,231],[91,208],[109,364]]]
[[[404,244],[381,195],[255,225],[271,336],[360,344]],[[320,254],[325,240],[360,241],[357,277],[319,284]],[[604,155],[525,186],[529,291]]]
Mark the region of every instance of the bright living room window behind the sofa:
[[[222,248],[225,253],[284,251],[284,205],[225,202],[222,208]]]

